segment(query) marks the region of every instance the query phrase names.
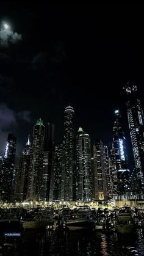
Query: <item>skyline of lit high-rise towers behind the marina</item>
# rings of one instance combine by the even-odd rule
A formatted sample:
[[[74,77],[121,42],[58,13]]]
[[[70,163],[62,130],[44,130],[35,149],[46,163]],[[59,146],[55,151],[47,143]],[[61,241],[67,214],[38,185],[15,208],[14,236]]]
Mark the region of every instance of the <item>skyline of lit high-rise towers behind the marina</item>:
[[[63,137],[54,144],[53,123],[37,119],[15,165],[16,137],[9,133],[0,169],[0,200],[92,202],[118,197],[143,197],[144,115],[137,86],[123,87],[134,166],[129,168],[127,137],[120,109],[114,112],[113,136],[109,146],[101,138],[91,141],[68,104],[63,113]],[[93,148],[93,150],[92,150]],[[134,186],[135,182],[135,186]]]

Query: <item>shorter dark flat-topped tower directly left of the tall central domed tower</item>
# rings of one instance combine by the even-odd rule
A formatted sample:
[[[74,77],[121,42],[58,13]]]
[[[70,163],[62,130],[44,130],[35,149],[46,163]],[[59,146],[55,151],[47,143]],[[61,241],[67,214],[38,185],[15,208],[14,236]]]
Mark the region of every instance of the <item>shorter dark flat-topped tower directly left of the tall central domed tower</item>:
[[[54,191],[53,200],[60,201],[62,185],[62,144],[54,146]]]

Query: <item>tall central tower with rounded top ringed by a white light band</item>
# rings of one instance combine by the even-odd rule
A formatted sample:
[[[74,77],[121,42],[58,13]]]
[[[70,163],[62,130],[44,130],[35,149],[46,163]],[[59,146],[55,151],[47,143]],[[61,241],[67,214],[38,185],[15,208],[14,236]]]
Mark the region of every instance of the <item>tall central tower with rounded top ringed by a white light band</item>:
[[[61,200],[73,200],[74,109],[65,108]]]

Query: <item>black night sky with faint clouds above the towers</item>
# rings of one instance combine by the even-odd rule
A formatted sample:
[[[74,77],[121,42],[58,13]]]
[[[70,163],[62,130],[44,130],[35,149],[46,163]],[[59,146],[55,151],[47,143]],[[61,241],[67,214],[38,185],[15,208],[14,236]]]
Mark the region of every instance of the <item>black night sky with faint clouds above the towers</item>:
[[[4,22],[19,39],[0,44],[0,155],[9,132],[19,155],[39,117],[54,123],[55,142],[61,141],[69,103],[76,128],[92,144],[97,137],[112,140],[119,108],[131,155],[123,86],[136,84],[143,106],[143,5],[4,1],[1,31]]]

